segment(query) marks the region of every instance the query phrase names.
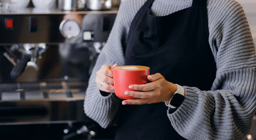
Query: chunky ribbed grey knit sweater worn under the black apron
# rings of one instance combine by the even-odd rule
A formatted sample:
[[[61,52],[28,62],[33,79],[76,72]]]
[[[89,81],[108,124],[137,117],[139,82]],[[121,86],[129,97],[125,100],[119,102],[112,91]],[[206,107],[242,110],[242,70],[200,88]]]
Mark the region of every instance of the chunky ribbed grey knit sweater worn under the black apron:
[[[122,105],[115,93],[101,95],[95,83],[96,71],[104,64],[124,65],[122,45],[126,43],[133,17],[144,2],[122,2],[89,79],[85,113],[103,128],[115,122],[115,114]],[[155,0],[151,10],[154,15],[165,16],[191,5],[192,0]],[[243,139],[256,108],[256,56],[250,28],[243,8],[236,1],[208,0],[207,13],[216,79],[209,91],[182,85],[185,101],[177,111],[167,115],[175,130],[186,139]]]

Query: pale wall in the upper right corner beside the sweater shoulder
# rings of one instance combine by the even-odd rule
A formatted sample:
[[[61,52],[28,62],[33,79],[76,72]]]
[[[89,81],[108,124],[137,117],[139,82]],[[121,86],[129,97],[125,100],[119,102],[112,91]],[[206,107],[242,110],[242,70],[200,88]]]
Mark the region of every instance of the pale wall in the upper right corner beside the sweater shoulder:
[[[256,0],[236,0],[243,8],[250,24],[254,44],[256,44]]]

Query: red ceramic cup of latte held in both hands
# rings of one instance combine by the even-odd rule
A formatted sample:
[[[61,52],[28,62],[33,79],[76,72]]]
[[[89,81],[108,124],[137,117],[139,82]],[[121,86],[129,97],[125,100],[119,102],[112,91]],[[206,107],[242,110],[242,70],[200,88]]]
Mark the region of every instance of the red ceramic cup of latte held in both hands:
[[[120,99],[137,99],[136,97],[124,95],[130,85],[141,85],[148,82],[147,75],[150,75],[150,68],[139,65],[124,65],[111,69],[113,71],[114,85],[116,96]]]

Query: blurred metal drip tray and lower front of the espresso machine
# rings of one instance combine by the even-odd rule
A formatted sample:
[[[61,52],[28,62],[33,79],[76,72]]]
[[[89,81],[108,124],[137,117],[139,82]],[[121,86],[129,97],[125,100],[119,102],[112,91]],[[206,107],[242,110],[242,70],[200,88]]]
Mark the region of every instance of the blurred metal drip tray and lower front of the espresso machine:
[[[86,121],[87,82],[1,83],[0,125]]]

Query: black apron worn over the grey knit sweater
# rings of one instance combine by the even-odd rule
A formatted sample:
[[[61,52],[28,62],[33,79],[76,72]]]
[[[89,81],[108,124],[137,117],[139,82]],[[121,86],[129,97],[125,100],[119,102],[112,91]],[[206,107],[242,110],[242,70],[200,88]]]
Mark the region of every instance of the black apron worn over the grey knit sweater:
[[[167,16],[152,16],[148,0],[130,26],[125,65],[145,65],[172,83],[210,90],[216,63],[209,46],[207,0]],[[120,105],[115,139],[184,139],[172,127],[164,103]],[[186,126],[184,126],[186,127]]]

